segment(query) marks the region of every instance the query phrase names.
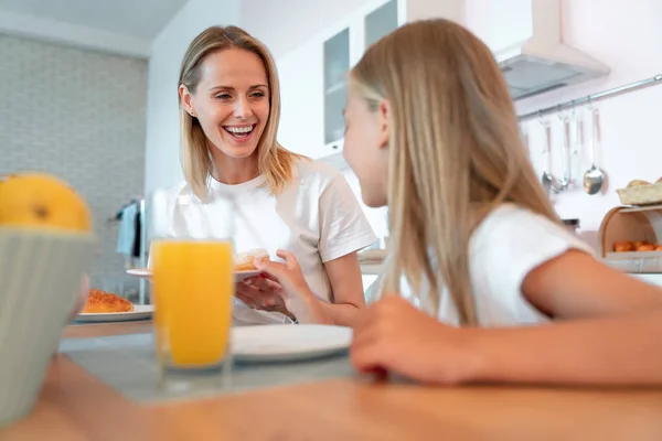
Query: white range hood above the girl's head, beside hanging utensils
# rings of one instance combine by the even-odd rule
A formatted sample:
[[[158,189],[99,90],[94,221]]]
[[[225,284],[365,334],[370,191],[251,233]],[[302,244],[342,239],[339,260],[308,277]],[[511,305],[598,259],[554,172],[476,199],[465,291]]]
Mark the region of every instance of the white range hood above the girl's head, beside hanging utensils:
[[[492,3],[499,3],[501,10],[490,8],[495,12],[485,18],[490,22],[490,33],[498,37],[509,33],[515,36],[494,50],[514,100],[609,74],[605,64],[563,42],[560,0],[500,0]],[[515,8],[515,3],[519,10],[503,11]],[[513,26],[520,29],[513,31]]]

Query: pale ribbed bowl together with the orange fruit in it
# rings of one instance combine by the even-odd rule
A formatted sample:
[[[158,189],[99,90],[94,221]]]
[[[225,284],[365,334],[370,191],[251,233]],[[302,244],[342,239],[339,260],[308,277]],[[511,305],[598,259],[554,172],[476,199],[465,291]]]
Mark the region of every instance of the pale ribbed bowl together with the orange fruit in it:
[[[95,250],[87,203],[66,182],[0,178],[0,427],[34,406]]]

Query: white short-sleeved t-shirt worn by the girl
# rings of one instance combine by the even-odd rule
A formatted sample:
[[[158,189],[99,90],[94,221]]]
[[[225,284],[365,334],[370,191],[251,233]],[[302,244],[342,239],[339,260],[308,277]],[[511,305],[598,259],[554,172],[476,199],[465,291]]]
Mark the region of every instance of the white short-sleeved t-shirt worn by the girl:
[[[548,322],[547,315],[528,303],[522,293],[522,282],[531,270],[569,249],[595,256],[588,244],[544,216],[514,204],[492,211],[473,232],[469,244],[469,273],[479,324],[512,326]],[[402,293],[412,299],[404,277]],[[446,289],[438,319],[446,324],[459,324],[457,309]]]

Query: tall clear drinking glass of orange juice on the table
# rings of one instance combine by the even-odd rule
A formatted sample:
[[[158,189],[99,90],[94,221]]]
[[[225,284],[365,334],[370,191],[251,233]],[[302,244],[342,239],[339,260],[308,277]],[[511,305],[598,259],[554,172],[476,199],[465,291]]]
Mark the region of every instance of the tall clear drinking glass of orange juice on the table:
[[[153,216],[171,215],[162,201],[154,195]],[[180,197],[177,204],[179,212],[195,209],[200,224],[195,234],[184,237],[154,232],[151,241],[160,384],[171,387],[210,377],[226,384],[232,373],[235,286],[233,204],[214,201],[213,222],[194,197]]]

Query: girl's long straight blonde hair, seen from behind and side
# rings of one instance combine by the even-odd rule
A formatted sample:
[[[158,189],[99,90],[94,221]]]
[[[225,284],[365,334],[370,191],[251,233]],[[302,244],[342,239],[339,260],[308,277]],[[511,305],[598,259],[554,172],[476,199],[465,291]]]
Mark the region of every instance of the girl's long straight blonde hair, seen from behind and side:
[[[445,286],[460,323],[477,324],[468,250],[478,224],[504,202],[559,222],[492,53],[459,24],[418,21],[371,46],[351,82],[372,110],[392,106],[383,292],[398,292],[404,275],[436,314]]]

